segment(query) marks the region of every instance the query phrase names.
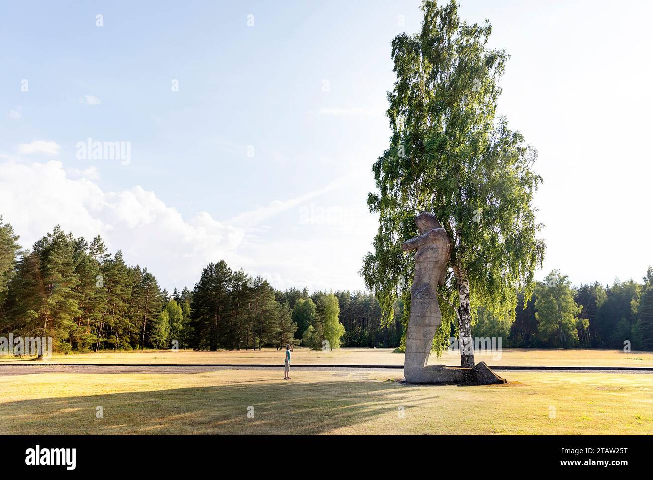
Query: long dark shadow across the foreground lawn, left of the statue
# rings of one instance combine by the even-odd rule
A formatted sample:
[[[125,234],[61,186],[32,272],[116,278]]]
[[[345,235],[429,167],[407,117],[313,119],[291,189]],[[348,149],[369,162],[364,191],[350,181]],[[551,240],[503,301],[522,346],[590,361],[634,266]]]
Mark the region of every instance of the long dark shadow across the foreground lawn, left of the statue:
[[[0,433],[321,434],[381,415],[396,419],[407,398],[394,381],[259,382],[42,398],[0,403]],[[407,403],[434,398],[435,391],[424,389]],[[103,418],[97,418],[98,407]]]

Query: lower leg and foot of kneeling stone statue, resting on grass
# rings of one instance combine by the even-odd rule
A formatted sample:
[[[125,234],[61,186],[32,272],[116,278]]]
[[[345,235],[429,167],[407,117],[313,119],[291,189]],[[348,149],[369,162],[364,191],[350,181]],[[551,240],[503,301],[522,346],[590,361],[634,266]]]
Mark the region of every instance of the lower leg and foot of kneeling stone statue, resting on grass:
[[[427,365],[425,367],[404,367],[407,383],[432,383],[434,385],[492,385],[507,383],[498,376],[485,362],[478,362],[472,368],[447,365]]]

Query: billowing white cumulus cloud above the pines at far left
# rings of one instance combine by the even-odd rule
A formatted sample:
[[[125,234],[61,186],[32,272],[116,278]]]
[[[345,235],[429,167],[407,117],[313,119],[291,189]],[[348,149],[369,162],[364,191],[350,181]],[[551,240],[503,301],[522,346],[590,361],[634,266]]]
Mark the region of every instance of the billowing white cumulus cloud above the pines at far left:
[[[209,262],[236,258],[244,236],[206,212],[184,219],[139,186],[108,192],[88,178],[73,180],[60,161],[9,160],[0,170],[0,213],[22,246],[57,224],[87,239],[100,234],[110,251],[121,249],[128,263],[147,266],[163,287],[192,287]]]

